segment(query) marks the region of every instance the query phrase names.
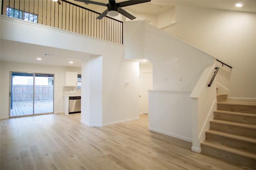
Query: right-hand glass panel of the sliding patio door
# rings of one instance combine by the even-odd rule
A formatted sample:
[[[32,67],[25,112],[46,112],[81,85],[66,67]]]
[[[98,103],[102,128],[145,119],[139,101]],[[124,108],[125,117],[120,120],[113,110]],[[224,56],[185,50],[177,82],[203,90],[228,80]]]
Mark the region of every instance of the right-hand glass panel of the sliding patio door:
[[[53,74],[35,74],[34,114],[53,113]]]

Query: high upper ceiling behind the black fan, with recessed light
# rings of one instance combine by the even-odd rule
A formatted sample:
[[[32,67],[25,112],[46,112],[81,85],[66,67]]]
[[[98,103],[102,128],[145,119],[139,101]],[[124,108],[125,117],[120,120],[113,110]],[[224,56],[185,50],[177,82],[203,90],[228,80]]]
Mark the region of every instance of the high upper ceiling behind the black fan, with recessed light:
[[[95,10],[97,12],[103,12],[106,10],[104,6],[98,6],[94,4],[84,4],[83,2],[77,2],[70,0],[73,3],[79,4],[86,8]],[[94,0],[107,4],[108,0]],[[116,2],[122,2],[126,0],[116,0]],[[242,3],[244,6],[238,8],[235,6],[236,3]],[[131,10],[133,12],[142,14],[160,14],[172,6],[194,6],[203,8],[213,8],[221,10],[234,10],[243,12],[256,12],[256,0],[151,0],[143,4],[137,4],[133,6],[124,7],[124,9]]]

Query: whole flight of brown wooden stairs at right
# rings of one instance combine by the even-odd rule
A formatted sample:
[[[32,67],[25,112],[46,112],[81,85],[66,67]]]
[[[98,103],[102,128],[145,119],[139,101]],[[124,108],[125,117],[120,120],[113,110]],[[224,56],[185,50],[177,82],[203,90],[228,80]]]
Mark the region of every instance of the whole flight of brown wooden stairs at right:
[[[256,169],[256,102],[217,94],[217,108],[201,143],[202,153]]]

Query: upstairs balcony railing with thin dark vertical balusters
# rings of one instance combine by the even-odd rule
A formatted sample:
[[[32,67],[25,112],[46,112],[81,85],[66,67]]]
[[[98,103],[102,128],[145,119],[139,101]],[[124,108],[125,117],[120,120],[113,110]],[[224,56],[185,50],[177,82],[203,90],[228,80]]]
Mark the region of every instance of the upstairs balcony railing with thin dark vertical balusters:
[[[2,15],[90,37],[123,43],[123,23],[66,0],[2,0]]]

